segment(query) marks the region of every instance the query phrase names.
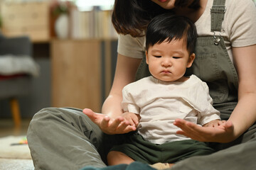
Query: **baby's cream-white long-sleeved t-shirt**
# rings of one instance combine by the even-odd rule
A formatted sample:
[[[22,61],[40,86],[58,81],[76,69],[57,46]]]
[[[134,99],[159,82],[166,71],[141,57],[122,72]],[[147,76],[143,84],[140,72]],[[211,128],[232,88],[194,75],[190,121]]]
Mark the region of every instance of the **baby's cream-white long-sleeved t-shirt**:
[[[139,134],[156,144],[190,139],[176,134],[176,118],[199,125],[220,119],[208,86],[195,75],[183,82],[145,77],[124,86],[122,94],[123,110],[141,116]]]

